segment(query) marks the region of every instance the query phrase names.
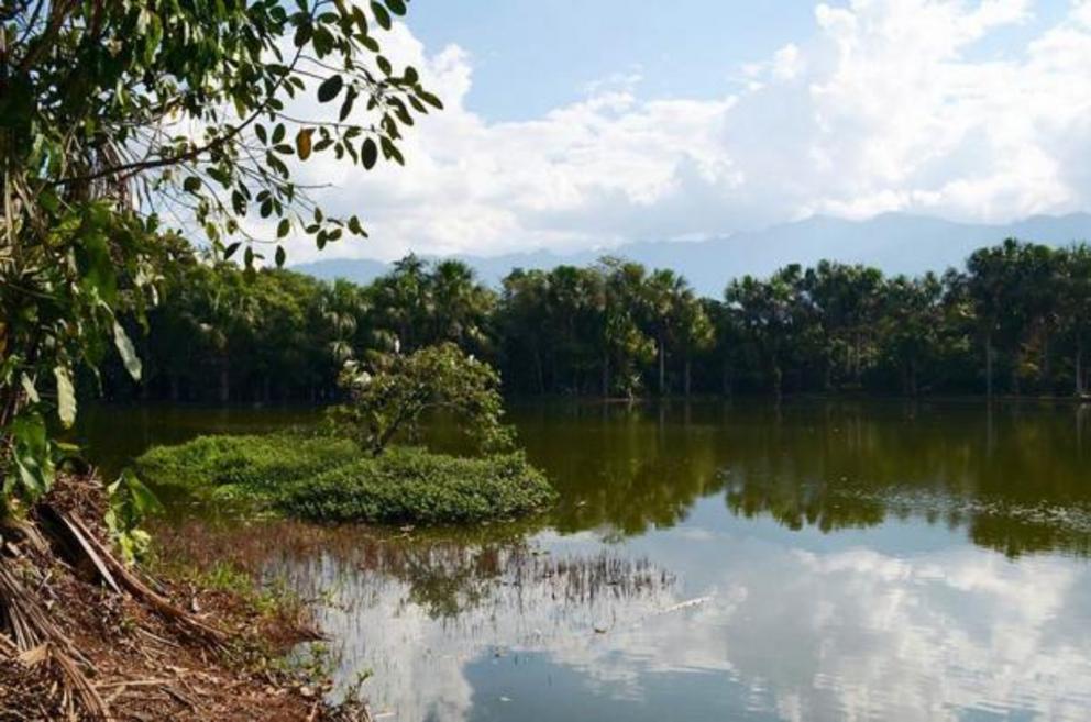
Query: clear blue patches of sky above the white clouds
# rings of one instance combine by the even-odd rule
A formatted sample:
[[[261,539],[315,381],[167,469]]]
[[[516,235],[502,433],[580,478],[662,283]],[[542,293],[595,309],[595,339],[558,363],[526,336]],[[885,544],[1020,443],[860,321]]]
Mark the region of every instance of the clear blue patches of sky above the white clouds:
[[[639,74],[648,98],[717,98],[739,70],[814,34],[807,0],[414,0],[409,26],[431,47],[455,43],[474,62],[466,105],[494,121],[528,120],[586,95],[588,85]],[[847,4],[830,2],[831,5]],[[971,57],[1018,54],[1059,21],[1066,0],[984,38]]]

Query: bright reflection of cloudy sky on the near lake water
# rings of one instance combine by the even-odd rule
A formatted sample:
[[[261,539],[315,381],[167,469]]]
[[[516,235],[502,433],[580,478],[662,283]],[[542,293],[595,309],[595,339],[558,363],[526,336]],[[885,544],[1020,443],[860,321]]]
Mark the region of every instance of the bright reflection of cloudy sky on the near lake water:
[[[702,504],[723,509],[716,498]],[[375,711],[398,720],[476,719],[495,693],[528,703],[519,692],[551,668],[581,680],[570,708],[597,697],[658,710],[677,700],[663,697],[672,680],[699,673],[701,704],[688,709],[706,717],[730,719],[719,706],[746,698],[756,718],[798,722],[956,722],[982,709],[1087,719],[1091,569],[1080,560],[1012,563],[970,544],[808,551],[790,533],[762,541],[752,530],[684,525],[621,545],[546,532],[528,547],[487,549],[353,534],[313,556],[286,545],[273,568],[305,598],[326,600],[318,621],[339,641],[340,681],[374,669],[365,690]],[[550,554],[531,553],[541,549]],[[594,584],[598,559],[643,552],[651,578],[669,569],[677,580]],[[476,602],[430,617],[427,596],[404,578],[426,567],[436,580],[461,580],[460,598]],[[418,592],[450,589],[416,579]],[[537,659],[521,677],[520,656]],[[473,668],[489,665],[496,677],[482,685]]]

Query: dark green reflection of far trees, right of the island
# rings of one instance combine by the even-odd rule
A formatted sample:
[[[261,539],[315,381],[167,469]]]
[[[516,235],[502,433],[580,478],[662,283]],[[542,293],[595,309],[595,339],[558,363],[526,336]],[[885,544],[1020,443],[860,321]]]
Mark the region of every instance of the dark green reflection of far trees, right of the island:
[[[798,401],[565,404],[517,418],[561,488],[556,529],[670,527],[724,493],[792,530],[888,518],[963,527],[1011,557],[1091,548],[1087,406]]]

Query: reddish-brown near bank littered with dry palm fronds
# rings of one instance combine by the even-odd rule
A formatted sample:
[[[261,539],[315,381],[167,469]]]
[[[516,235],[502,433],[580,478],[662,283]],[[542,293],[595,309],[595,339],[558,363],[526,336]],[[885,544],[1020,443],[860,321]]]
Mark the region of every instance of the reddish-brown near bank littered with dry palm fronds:
[[[35,523],[69,519],[66,498],[101,504],[102,491],[93,477],[63,477]],[[24,620],[24,634],[37,623],[48,634],[22,654],[0,646],[0,719],[85,719],[89,708],[114,722],[366,719],[327,706],[323,670],[289,662],[296,645],[320,638],[298,598],[210,574],[167,547],[150,565],[115,566],[106,527],[70,518],[97,549],[90,568],[4,533],[19,551],[5,570],[26,590],[7,613]]]

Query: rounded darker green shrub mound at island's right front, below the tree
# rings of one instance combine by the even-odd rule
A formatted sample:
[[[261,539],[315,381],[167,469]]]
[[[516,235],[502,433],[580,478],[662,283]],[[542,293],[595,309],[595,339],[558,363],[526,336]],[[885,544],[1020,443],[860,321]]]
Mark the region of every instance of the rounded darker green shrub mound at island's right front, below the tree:
[[[463,458],[393,448],[295,484],[278,503],[313,521],[444,524],[521,516],[554,498],[522,454]]]

